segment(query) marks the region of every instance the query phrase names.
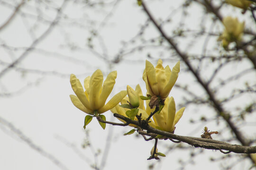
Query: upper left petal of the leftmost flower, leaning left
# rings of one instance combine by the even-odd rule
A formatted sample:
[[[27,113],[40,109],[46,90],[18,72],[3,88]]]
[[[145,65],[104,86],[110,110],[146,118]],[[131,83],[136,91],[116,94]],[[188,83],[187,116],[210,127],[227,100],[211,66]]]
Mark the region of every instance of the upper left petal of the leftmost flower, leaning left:
[[[82,104],[89,110],[91,109],[91,105],[89,103],[89,101],[87,100],[82,85],[80,83],[80,81],[76,78],[75,75],[71,74],[70,75],[70,84],[72,86],[72,89],[74,91],[74,93],[76,94],[76,96],[78,97],[78,99],[82,102]]]

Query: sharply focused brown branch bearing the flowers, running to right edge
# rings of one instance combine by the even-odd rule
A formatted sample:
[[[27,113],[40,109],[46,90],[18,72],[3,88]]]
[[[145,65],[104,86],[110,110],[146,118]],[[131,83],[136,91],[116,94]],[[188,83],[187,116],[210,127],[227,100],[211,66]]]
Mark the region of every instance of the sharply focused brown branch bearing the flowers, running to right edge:
[[[134,125],[137,125],[138,127],[141,127],[141,123],[136,120],[131,120],[117,113],[114,113],[114,117],[122,119],[129,124],[134,124]],[[213,149],[213,150],[226,150],[228,152],[233,152],[233,153],[256,153],[256,146],[242,146],[238,144],[229,144],[226,142],[221,142],[221,141],[212,140],[212,139],[204,139],[204,138],[190,137],[190,136],[179,136],[169,132],[155,129],[150,126],[143,126],[141,128],[147,131],[143,132],[142,130],[140,130],[139,134],[148,135],[148,136],[153,136],[153,134],[154,136],[155,134],[162,135],[171,139],[182,141],[194,147],[201,147],[201,148]]]

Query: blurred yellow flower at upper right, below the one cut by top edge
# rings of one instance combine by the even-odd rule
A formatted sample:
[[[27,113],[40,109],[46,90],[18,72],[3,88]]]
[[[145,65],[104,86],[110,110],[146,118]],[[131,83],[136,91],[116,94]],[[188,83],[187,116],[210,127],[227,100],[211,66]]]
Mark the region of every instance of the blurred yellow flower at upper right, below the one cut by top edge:
[[[245,23],[240,23],[238,18],[233,17],[225,17],[222,22],[225,26],[225,30],[219,39],[222,40],[223,47],[226,48],[230,42],[241,40]]]

